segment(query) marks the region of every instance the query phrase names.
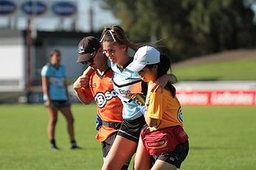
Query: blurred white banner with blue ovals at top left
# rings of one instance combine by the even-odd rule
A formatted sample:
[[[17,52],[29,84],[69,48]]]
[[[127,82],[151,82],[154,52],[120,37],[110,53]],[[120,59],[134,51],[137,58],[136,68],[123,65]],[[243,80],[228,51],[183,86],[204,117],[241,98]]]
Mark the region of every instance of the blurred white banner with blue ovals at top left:
[[[0,0],[0,17],[75,17],[77,1]]]

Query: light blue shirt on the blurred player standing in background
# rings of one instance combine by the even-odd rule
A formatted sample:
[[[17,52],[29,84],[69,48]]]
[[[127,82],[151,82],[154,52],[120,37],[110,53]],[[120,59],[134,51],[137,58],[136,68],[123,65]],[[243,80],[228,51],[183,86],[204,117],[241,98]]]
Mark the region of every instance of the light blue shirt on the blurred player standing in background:
[[[49,63],[41,69],[41,77],[48,77],[50,81],[49,94],[51,100],[67,100],[66,87],[64,80],[66,78],[66,69],[64,65],[55,68]],[[44,101],[47,96],[44,94]]]

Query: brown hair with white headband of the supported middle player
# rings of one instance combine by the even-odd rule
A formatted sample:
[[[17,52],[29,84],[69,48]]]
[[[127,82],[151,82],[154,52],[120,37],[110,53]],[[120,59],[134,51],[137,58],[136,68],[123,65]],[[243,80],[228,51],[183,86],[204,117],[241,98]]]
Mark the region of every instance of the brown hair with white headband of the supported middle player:
[[[115,42],[121,45],[126,45],[127,47],[137,51],[142,45],[139,43],[132,43],[126,37],[124,29],[121,26],[107,26],[104,28],[101,34],[101,43],[105,41]]]

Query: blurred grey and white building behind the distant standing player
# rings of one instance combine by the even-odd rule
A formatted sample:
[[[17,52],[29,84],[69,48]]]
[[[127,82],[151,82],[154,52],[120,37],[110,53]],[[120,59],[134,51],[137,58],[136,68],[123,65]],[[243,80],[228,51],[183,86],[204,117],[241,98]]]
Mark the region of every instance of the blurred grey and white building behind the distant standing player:
[[[1,29],[0,103],[41,102],[41,68],[49,61],[52,49],[61,51],[67,79],[78,77],[84,65],[76,63],[77,45],[88,35],[100,36],[95,32],[37,31],[28,46],[26,30]]]

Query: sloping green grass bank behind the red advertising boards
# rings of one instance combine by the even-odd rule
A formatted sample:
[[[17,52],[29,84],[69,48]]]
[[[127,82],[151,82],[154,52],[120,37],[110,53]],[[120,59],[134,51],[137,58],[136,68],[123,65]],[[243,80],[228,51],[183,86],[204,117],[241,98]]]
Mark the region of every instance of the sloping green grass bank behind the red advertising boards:
[[[220,60],[215,62],[177,66],[172,72],[179,81],[184,80],[255,80],[256,57],[240,60]]]

